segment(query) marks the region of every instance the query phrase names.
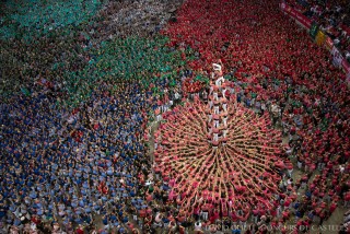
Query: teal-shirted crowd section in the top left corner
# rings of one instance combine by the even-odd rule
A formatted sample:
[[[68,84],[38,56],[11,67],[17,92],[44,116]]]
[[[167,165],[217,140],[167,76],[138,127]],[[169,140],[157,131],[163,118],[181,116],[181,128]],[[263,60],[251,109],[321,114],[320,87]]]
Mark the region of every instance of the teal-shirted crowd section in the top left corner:
[[[103,1],[3,1],[0,26],[2,39],[33,42],[60,27],[86,22],[101,9]]]

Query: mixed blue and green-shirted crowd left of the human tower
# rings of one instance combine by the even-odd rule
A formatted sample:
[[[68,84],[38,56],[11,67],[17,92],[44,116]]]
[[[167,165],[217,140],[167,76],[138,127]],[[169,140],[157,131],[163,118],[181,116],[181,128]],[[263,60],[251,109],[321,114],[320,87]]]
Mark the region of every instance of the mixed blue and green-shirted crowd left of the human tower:
[[[162,9],[153,24],[167,21],[163,10],[171,3],[148,5]],[[112,13],[120,7],[121,15],[133,10],[122,4],[108,5]],[[108,10],[44,37],[30,35],[33,44],[1,35],[1,232],[72,233],[102,222],[102,232],[128,233],[128,219],[149,208],[143,132],[158,105],[153,95],[176,84],[185,61],[165,37],[150,37],[150,26],[130,38],[124,23],[101,27],[115,20],[106,19]],[[153,13],[147,16],[159,16]],[[139,32],[147,39],[137,38]]]

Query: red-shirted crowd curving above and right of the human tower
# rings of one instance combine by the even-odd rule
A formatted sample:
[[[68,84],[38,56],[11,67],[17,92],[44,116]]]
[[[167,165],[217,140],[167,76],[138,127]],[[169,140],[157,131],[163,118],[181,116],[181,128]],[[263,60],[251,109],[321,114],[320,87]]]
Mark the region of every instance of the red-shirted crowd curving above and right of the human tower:
[[[164,34],[171,36],[172,45],[185,42],[200,51],[201,59],[191,62],[195,69],[218,58],[228,63],[237,101],[258,113],[268,110],[282,127],[289,139],[287,153],[304,173],[289,183],[296,190],[305,189],[299,190],[302,198],[287,203],[291,209],[284,210],[282,220],[296,217],[299,225],[322,223],[350,195],[345,74],[331,67],[327,51],[314,45],[306,32],[284,23],[276,3],[224,5],[221,1],[188,1],[177,23]],[[316,168],[319,175],[313,177]]]

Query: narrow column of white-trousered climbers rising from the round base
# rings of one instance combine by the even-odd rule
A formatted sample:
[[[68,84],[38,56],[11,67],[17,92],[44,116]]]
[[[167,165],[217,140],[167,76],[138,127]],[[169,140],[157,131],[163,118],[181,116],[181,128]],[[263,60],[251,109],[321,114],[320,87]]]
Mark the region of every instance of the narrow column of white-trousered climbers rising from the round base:
[[[223,78],[222,67],[213,63],[208,102],[208,140],[212,147],[224,147],[228,142],[228,98],[226,82]]]

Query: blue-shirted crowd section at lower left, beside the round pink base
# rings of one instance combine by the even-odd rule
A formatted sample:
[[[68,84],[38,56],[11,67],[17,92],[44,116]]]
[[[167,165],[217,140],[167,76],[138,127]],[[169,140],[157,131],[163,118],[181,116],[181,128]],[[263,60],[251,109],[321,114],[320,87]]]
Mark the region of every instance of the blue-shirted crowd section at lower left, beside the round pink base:
[[[73,112],[45,94],[1,105],[4,223],[25,231],[27,220],[59,219],[69,232],[72,223],[93,224],[96,213],[121,229],[131,208],[147,207],[139,178],[150,168],[142,140],[149,94],[117,83],[110,95],[109,85]]]

